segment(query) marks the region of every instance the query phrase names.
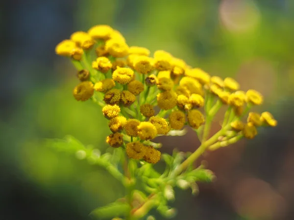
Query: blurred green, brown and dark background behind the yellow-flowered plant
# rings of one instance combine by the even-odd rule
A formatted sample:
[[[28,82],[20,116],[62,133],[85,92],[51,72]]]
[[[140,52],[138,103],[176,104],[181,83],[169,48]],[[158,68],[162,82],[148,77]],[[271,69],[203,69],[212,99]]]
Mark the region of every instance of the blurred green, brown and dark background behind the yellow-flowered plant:
[[[71,134],[106,151],[106,120],[95,104],[73,99],[75,70],[54,54],[61,40],[95,24],[118,29],[129,45],[163,49],[211,75],[235,77],[242,89],[264,94],[255,110],[269,110],[279,122],[254,140],[205,154],[218,180],[200,184],[197,197],[176,191],[174,219],[294,219],[293,0],[1,3],[0,220],[87,220],[94,208],[123,196],[103,169],[43,141]],[[167,153],[199,145],[191,131],[158,141]]]

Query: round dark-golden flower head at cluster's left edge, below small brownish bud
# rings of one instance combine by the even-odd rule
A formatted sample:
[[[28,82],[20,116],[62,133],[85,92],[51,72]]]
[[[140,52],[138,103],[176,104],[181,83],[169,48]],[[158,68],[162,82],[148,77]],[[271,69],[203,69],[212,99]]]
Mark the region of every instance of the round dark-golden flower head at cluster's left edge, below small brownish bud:
[[[94,85],[89,81],[78,84],[73,89],[73,96],[77,101],[86,101],[94,94]]]

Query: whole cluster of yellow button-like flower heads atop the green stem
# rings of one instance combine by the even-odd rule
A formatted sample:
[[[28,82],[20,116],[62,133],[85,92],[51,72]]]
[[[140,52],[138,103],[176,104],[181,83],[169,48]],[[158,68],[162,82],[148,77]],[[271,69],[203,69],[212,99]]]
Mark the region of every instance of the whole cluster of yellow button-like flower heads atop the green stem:
[[[210,76],[163,50],[150,56],[147,48],[129,46],[108,25],[75,32],[55,51],[70,57],[78,69],[80,83],[73,89],[74,98],[92,99],[102,107],[112,132],[106,142],[123,147],[130,158],[158,162],[160,152],[154,148],[158,145],[150,140],[185,125],[204,141],[204,123],[210,124],[221,106],[227,108],[222,128],[231,132],[225,140],[251,139],[257,134],[256,127],[277,125],[269,112],[249,112],[242,122],[252,106],[263,103],[259,92],[239,90],[234,79]]]

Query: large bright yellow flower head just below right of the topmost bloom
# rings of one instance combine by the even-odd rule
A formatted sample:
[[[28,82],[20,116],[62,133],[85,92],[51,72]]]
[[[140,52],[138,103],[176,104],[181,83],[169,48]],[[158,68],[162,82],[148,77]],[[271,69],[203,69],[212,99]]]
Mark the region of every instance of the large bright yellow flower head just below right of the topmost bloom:
[[[128,45],[120,39],[110,39],[105,43],[105,49],[113,57],[125,57],[128,54]]]

